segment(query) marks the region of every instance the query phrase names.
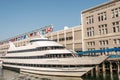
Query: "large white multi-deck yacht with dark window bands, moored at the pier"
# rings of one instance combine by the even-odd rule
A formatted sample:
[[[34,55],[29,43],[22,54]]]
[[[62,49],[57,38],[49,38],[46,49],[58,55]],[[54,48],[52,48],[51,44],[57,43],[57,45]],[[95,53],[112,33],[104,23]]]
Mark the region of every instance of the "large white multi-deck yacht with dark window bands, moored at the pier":
[[[21,47],[10,43],[7,54],[1,59],[3,67],[19,69],[21,73],[80,77],[107,57],[78,56],[55,41],[34,38]]]

